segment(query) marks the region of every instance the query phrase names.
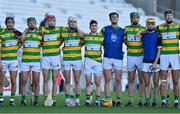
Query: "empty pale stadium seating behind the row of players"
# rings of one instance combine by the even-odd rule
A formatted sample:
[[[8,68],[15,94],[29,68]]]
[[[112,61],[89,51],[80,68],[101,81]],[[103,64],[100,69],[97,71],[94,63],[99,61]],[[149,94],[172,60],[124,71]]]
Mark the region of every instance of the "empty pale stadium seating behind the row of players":
[[[135,8],[133,5],[127,4],[124,0],[1,0],[0,22],[1,26],[4,27],[5,17],[13,16],[16,20],[16,28],[23,31],[27,26],[26,19],[28,17],[36,17],[39,24],[44,18],[45,13],[48,12],[56,16],[57,25],[63,26],[67,25],[68,16],[76,16],[79,27],[83,31],[88,32],[89,21],[91,19],[96,19],[99,22],[99,30],[103,26],[108,25],[108,14],[112,11],[117,11],[120,14],[119,25],[122,27],[130,23],[130,12],[139,12],[141,15],[140,22],[142,24],[145,24],[147,18],[142,9]],[[154,18],[156,18],[157,24],[163,22],[158,17]],[[126,51],[125,46],[124,51]],[[124,58],[124,71],[126,71],[126,54]],[[127,73],[123,75],[126,76]],[[126,85],[127,81],[124,81],[124,83]],[[123,90],[125,90],[125,85],[123,86]],[[82,87],[85,87],[84,83],[82,83]]]

